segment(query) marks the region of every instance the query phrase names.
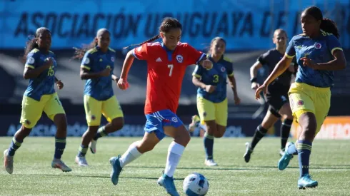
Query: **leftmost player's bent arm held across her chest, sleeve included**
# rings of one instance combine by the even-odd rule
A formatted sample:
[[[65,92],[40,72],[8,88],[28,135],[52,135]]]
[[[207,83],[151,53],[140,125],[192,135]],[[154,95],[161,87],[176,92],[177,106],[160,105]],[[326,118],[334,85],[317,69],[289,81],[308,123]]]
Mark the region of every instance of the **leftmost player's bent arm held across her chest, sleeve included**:
[[[39,59],[36,58],[35,53],[29,53],[26,57],[26,65],[24,66],[24,79],[37,78],[40,73],[50,68],[54,62],[52,58],[46,58],[43,66],[37,67]]]

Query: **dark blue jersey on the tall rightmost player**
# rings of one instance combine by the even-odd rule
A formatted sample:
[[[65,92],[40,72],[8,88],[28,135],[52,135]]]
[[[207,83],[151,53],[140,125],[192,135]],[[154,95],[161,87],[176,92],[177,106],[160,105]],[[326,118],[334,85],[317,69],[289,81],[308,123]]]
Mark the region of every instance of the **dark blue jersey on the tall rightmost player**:
[[[286,49],[286,56],[293,58],[296,55],[299,69],[295,81],[316,87],[334,86],[333,71],[314,70],[303,66],[304,61],[300,58],[307,57],[315,63],[326,63],[334,59],[333,52],[335,50],[342,49],[336,36],[331,33],[321,31],[317,38],[309,38],[304,34],[294,36]]]

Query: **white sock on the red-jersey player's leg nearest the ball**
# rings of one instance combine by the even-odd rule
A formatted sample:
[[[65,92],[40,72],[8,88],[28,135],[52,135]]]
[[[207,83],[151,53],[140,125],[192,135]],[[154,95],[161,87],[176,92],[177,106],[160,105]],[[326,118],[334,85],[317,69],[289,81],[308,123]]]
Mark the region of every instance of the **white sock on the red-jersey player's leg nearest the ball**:
[[[172,142],[168,148],[168,158],[166,159],[166,166],[164,174],[172,177],[176,170],[177,165],[179,164],[182,153],[184,153],[185,147],[179,145],[176,142]]]

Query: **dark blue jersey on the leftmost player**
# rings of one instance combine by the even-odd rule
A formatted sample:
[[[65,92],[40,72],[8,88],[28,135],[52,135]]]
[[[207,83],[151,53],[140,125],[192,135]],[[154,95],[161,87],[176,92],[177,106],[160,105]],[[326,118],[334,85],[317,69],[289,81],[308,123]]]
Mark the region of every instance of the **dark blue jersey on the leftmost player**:
[[[39,68],[44,65],[45,59],[49,57],[55,58],[54,53],[51,51],[48,53],[42,53],[39,49],[34,48],[26,56],[26,67]],[[41,72],[37,78],[29,79],[29,85],[24,92],[24,96],[40,101],[41,96],[55,93],[54,84],[56,68],[57,63],[54,59],[51,68]]]

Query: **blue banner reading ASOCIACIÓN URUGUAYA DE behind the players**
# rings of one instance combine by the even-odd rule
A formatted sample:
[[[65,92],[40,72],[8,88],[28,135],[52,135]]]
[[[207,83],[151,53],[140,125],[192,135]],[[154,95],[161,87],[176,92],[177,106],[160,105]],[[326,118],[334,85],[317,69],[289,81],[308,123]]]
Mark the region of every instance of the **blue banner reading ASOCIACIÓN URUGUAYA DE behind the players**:
[[[343,47],[350,48],[349,0],[3,0],[0,48],[24,48],[27,37],[46,26],[54,49],[90,43],[100,28],[111,31],[111,47],[120,49],[156,35],[161,20],[173,16],[183,24],[181,41],[196,48],[223,36],[227,50],[266,49],[274,29],[285,29],[289,38],[301,33],[301,11],[313,4],[336,21]]]

